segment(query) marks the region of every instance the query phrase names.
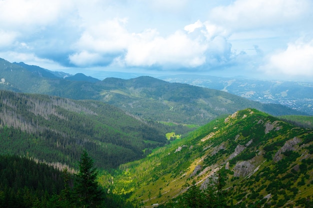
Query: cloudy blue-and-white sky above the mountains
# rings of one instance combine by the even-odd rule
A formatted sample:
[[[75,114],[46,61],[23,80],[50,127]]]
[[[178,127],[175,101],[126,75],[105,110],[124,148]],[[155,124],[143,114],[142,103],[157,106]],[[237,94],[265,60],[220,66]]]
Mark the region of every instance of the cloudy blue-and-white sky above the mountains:
[[[312,0],[0,0],[0,57],[53,71],[313,82]]]

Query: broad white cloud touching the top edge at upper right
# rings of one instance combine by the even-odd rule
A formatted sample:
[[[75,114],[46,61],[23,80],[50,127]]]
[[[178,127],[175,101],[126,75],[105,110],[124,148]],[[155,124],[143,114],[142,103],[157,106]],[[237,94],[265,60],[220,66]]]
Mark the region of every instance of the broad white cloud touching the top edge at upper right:
[[[310,0],[235,0],[227,6],[217,6],[210,12],[210,20],[236,29],[280,27],[298,24],[310,16]]]

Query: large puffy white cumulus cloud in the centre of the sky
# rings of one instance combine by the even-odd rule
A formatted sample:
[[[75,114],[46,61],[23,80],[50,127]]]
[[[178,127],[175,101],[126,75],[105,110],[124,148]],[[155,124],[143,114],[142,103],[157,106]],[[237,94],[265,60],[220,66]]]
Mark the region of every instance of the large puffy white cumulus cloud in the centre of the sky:
[[[129,66],[158,66],[163,69],[207,68],[223,65],[231,56],[231,45],[212,31],[207,22],[197,20],[194,24],[177,30],[166,37],[156,30],[135,34],[135,40],[127,48],[125,63]],[[205,68],[204,67],[204,68]]]

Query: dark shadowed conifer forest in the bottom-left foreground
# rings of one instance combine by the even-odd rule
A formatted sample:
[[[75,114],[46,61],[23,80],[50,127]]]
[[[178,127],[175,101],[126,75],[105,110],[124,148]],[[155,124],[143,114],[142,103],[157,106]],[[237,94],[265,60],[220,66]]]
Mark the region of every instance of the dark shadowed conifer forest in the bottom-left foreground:
[[[80,181],[81,177],[89,173],[97,176],[92,159],[88,155],[83,156],[81,159],[86,158],[87,164],[81,159],[77,163],[87,172],[79,170],[77,175],[72,175],[67,170],[60,172],[27,158],[0,155],[0,208],[95,208],[92,205],[95,202],[101,208],[132,208],[119,196],[104,192],[94,179],[92,193],[99,193],[100,196],[95,200],[88,195],[87,206],[81,206],[80,197],[85,189],[78,188],[86,183]]]

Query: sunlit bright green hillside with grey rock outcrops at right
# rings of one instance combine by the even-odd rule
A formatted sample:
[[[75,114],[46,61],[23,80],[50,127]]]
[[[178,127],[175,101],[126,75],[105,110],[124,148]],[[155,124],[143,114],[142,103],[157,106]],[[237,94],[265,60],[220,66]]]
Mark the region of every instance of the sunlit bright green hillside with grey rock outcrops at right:
[[[123,164],[102,183],[142,207],[204,188],[223,167],[226,203],[235,207],[304,207],[313,202],[313,131],[255,109],[216,119],[187,138]],[[175,200],[174,200],[175,201]]]

